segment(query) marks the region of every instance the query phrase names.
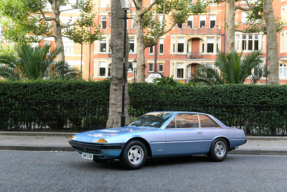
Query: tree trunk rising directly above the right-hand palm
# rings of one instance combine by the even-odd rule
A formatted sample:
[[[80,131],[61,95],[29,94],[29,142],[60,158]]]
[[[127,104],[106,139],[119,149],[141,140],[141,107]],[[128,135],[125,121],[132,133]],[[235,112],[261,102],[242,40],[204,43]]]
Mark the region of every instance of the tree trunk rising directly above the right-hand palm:
[[[228,53],[235,51],[235,0],[228,0]]]

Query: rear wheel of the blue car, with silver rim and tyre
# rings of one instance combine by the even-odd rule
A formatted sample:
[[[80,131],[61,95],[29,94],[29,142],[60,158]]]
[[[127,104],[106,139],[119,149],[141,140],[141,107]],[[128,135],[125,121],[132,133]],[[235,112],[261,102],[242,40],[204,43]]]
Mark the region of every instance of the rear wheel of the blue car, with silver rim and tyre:
[[[220,162],[226,158],[227,152],[228,145],[226,141],[222,138],[219,138],[212,142],[208,156],[212,161]]]

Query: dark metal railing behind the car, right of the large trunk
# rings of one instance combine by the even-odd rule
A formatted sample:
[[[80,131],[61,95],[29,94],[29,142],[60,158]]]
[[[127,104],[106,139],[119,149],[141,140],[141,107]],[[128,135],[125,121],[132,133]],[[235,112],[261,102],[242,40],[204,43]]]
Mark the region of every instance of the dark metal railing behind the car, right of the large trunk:
[[[130,119],[150,111],[194,111],[215,116],[250,135],[286,135],[287,105],[131,105]]]

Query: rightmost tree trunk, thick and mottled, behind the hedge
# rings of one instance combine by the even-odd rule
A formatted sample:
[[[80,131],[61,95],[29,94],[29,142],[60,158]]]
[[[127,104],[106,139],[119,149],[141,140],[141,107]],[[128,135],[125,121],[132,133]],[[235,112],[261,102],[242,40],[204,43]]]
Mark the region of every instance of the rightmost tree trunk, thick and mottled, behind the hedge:
[[[272,0],[263,0],[263,7],[263,16],[267,29],[268,61],[270,71],[268,84],[279,85],[278,42]]]

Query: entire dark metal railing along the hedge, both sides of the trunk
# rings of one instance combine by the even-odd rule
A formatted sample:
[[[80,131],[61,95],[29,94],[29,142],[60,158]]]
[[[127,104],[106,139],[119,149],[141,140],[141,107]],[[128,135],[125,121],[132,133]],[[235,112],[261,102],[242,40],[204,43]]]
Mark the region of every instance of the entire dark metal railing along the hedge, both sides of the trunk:
[[[0,102],[0,130],[84,131],[105,128],[104,102]],[[208,113],[250,135],[286,135],[287,105],[139,104],[129,106],[129,120],[151,111]]]

